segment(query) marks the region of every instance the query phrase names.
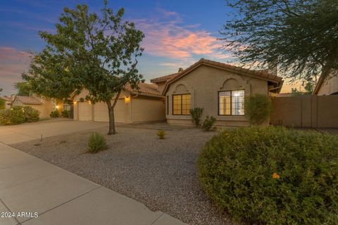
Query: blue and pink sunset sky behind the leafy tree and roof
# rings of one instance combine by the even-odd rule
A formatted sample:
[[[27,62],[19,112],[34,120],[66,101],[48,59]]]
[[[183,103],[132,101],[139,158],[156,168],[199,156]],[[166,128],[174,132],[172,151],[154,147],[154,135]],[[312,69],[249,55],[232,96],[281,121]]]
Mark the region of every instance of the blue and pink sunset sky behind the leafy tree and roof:
[[[3,95],[14,94],[13,83],[27,70],[26,51],[41,51],[45,45],[39,30],[55,32],[58,15],[65,6],[89,5],[99,12],[102,1],[11,0],[0,2],[0,88]],[[224,0],[192,1],[108,1],[114,10],[125,8],[125,19],[133,21],[146,35],[139,71],[146,80],[187,68],[200,58],[229,63],[231,55],[218,40],[230,8]],[[283,92],[291,89],[284,85]]]

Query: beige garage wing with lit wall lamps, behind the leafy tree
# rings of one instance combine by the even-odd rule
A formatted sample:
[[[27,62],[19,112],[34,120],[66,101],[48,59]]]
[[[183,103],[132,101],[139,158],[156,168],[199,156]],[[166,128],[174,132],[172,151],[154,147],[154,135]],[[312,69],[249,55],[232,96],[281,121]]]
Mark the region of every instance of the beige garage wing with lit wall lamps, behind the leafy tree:
[[[70,96],[74,105],[74,120],[108,122],[108,106],[104,102],[85,101],[88,94],[83,89],[80,94]],[[113,103],[114,99],[111,100]],[[156,84],[139,83],[139,90],[129,85],[120,94],[114,108],[115,122],[154,122],[165,120],[164,97]]]

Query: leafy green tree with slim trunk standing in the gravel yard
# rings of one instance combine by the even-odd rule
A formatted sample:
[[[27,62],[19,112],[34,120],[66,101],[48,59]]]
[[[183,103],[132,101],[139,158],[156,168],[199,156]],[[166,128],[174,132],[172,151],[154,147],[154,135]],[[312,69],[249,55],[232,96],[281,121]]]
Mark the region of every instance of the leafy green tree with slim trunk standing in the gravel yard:
[[[126,84],[137,89],[142,81],[137,58],[142,56],[139,43],[144,34],[123,20],[123,8],[114,13],[107,5],[104,1],[101,13],[89,12],[85,4],[64,8],[56,34],[39,33],[47,45],[23,77],[38,94],[50,97],[66,98],[75,89],[87,89],[88,101],[107,104],[108,134],[115,134],[113,109],[118,96]]]

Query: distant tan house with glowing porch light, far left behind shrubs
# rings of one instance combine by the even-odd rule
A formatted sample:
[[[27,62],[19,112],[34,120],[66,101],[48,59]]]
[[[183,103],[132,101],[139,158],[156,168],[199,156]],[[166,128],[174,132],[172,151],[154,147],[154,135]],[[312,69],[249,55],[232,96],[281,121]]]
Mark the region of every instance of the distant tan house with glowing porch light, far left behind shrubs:
[[[15,96],[12,106],[30,106],[40,112],[40,118],[48,118],[52,110],[59,108],[55,101],[49,101],[37,96]]]

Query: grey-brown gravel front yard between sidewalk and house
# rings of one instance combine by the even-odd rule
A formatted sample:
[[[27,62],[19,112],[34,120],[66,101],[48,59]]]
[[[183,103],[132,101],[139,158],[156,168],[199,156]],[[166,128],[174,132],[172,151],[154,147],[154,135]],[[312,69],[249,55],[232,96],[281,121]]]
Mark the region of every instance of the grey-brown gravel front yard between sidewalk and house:
[[[106,134],[107,129],[96,131]],[[87,153],[89,131],[13,147],[188,224],[232,224],[206,198],[196,176],[199,150],[215,132],[172,130],[164,140],[155,129],[118,127],[118,132],[106,136],[108,150],[96,154]]]

